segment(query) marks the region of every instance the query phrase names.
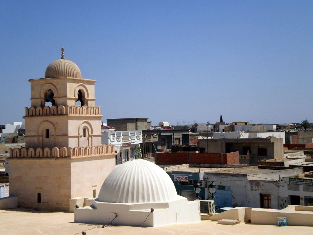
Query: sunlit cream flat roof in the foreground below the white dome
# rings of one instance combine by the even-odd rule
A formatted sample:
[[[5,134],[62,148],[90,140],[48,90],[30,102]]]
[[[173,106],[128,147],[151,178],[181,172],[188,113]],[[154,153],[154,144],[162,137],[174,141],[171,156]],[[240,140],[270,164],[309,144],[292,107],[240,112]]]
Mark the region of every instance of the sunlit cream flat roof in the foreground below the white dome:
[[[128,227],[86,225],[74,223],[74,213],[35,211],[26,208],[0,210],[0,233],[6,235],[24,234],[58,234],[80,235],[83,231],[87,235],[99,234],[137,234],[137,235],[294,235],[312,234],[313,227],[277,225],[256,225],[241,222],[237,225],[218,224],[217,221],[202,220],[199,223],[175,224],[161,227]]]

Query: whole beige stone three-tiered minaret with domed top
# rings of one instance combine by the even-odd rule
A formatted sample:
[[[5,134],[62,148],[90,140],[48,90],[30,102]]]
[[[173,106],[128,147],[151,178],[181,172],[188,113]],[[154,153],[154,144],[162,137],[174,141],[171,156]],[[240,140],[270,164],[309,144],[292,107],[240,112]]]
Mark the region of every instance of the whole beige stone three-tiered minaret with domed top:
[[[114,145],[101,145],[96,81],[82,78],[79,67],[65,60],[63,47],[44,78],[28,81],[26,147],[10,150],[10,196],[19,196],[20,206],[66,211],[70,198],[95,197],[103,175],[115,168]]]

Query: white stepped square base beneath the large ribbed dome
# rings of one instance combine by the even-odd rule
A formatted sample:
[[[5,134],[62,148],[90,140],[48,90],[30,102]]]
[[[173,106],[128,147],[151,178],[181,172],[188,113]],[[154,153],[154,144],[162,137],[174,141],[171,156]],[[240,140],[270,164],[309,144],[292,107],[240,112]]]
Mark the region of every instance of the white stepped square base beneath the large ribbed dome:
[[[176,200],[151,203],[108,203],[92,200],[92,206],[74,210],[76,223],[157,227],[200,222],[199,201]],[[150,209],[154,211],[151,212]],[[115,219],[116,218],[116,219]]]

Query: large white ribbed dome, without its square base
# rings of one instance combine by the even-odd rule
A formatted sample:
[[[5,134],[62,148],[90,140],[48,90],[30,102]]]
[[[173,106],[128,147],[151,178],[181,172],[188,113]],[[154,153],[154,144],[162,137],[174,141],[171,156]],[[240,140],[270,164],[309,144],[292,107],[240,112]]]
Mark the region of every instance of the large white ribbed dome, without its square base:
[[[173,181],[164,170],[149,161],[136,159],[123,163],[108,175],[97,201],[148,203],[177,197]]]

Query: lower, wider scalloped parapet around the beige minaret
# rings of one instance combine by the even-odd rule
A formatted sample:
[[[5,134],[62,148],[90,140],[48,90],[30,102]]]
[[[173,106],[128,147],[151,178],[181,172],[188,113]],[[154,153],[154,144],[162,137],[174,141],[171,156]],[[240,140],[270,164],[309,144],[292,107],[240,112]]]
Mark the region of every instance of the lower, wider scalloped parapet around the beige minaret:
[[[73,157],[81,157],[81,156],[90,156],[90,155],[98,155],[98,154],[111,154],[114,153],[114,144],[103,144],[97,146],[86,146],[86,147],[54,147],[50,148],[37,148],[36,150],[33,148],[14,148],[9,149],[10,157],[14,158],[38,158],[38,157],[53,157],[53,158],[73,158]]]

